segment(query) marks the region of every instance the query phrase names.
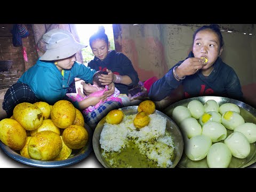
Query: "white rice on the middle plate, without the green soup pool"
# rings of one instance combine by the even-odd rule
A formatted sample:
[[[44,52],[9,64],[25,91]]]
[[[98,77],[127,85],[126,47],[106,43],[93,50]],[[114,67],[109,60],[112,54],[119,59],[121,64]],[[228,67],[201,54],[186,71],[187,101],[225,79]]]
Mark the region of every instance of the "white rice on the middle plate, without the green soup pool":
[[[171,135],[165,132],[166,118],[158,114],[150,114],[147,126],[137,129],[133,124],[135,115],[125,115],[117,125],[105,123],[100,134],[100,145],[103,154],[125,148],[129,139],[138,145],[140,153],[157,162],[160,167],[172,165],[171,156],[174,145]]]

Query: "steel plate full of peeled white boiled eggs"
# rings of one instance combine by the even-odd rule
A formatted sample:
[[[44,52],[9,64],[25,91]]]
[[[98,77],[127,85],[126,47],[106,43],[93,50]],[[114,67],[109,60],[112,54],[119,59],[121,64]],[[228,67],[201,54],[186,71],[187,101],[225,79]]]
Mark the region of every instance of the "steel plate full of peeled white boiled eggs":
[[[182,133],[178,167],[238,168],[256,162],[256,109],[250,105],[204,96],[175,102],[163,113]]]

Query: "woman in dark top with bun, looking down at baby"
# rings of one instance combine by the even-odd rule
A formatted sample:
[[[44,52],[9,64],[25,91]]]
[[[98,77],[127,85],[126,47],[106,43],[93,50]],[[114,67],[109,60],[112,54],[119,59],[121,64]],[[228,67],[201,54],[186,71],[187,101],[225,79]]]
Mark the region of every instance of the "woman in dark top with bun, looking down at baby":
[[[121,94],[128,95],[128,90],[139,83],[138,73],[134,70],[131,60],[123,53],[109,51],[108,36],[103,26],[90,37],[89,42],[94,59],[88,63],[88,67],[107,71],[108,75],[100,77],[102,85],[114,82]]]

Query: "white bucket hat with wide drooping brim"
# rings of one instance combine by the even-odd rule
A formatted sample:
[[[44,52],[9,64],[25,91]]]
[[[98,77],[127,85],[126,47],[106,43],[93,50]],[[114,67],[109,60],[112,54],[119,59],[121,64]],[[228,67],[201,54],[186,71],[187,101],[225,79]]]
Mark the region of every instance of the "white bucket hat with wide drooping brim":
[[[74,36],[64,29],[52,29],[43,35],[46,44],[46,52],[40,58],[44,61],[66,59],[87,45],[78,43]]]

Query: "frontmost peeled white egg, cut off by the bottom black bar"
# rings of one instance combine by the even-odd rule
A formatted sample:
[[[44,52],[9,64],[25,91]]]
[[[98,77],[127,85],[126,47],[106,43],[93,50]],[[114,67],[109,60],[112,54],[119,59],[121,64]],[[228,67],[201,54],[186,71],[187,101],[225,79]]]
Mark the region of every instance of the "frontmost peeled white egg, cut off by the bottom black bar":
[[[214,143],[207,153],[207,164],[210,168],[227,168],[232,154],[225,143]]]

